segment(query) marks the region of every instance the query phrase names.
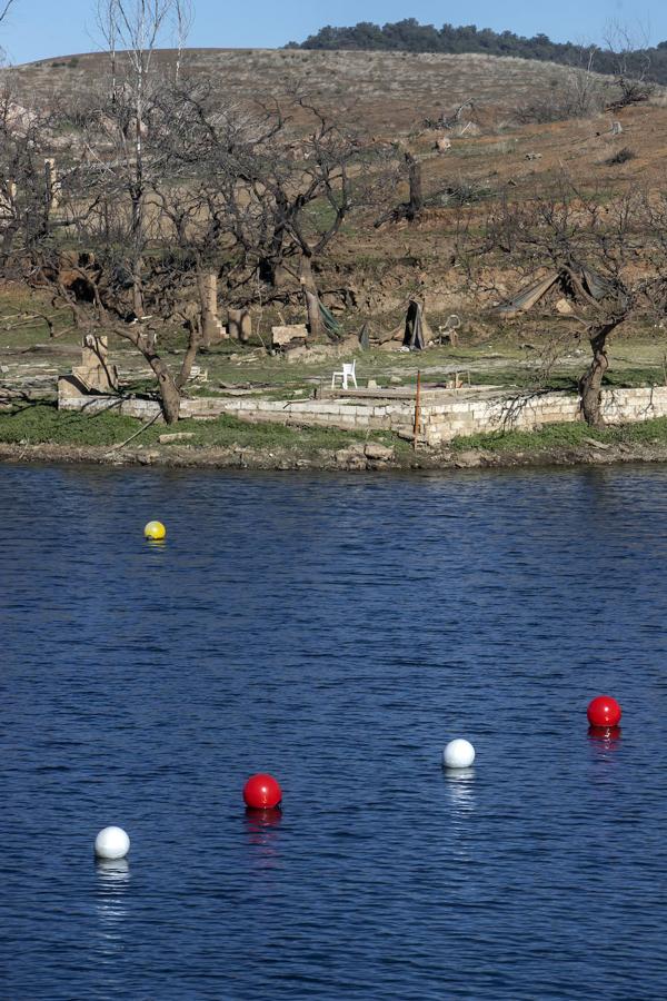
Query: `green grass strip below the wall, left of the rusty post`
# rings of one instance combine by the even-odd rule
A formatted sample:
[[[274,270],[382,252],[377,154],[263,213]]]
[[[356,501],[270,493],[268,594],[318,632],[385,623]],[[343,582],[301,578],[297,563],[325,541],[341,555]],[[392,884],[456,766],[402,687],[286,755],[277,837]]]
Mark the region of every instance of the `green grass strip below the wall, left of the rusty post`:
[[[54,406],[38,404],[0,415],[0,442],[9,444],[54,444],[111,447],[127,440],[141,428],[133,417],[113,414],[83,416],[59,412]],[[281,424],[248,424],[223,415],[216,420],[179,420],[172,427],[153,424],[131,443],[135,448],[157,445],[160,435],[189,432],[192,438],[173,443],[192,448],[225,448],[239,446],[256,449],[287,449],[312,453],[345,448],[352,442],[374,440],[406,449],[409,446],[389,432],[344,432],[329,428],[295,428]],[[172,448],[173,445],[165,445]]]

